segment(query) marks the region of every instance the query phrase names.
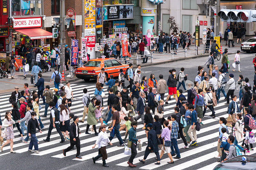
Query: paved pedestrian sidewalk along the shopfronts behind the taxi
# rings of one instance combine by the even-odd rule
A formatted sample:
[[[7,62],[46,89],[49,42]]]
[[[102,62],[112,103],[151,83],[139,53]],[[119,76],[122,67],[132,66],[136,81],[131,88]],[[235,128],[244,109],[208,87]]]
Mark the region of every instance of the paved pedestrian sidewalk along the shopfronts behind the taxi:
[[[248,40],[249,38],[252,38],[252,37],[253,36],[245,37],[245,40]],[[192,39],[192,41],[193,41],[193,39]],[[234,42],[235,42],[234,43],[235,47],[231,46],[230,48],[228,48],[228,46],[225,46],[226,41],[222,40],[220,43],[220,46],[222,46],[222,52],[224,52],[225,48],[228,48],[229,54],[235,54],[237,50],[240,50],[241,43],[236,44],[236,38],[234,39]],[[201,42],[200,47],[203,47],[203,46],[204,45]],[[179,52],[179,53],[177,53],[177,55],[174,55],[173,60],[172,60],[171,53],[163,52],[162,54],[160,54],[158,52],[154,52],[153,53],[153,63],[150,63],[150,61],[151,61],[150,58],[148,58],[148,63],[142,63],[142,60],[139,60],[138,63],[141,65],[141,67],[147,67],[147,66],[153,66],[153,65],[155,66],[155,65],[159,65],[159,64],[165,64],[165,63],[172,63],[172,62],[176,62],[176,61],[180,61],[180,60],[188,60],[188,59],[193,59],[193,58],[206,57],[210,54],[210,53],[204,54],[203,49],[200,49],[200,50],[198,50],[198,55],[196,55],[195,44],[191,44],[189,48],[190,49],[187,50],[186,58],[185,58],[184,52]],[[182,47],[179,46],[178,50],[179,49],[182,49]],[[48,72],[42,73],[43,78],[44,78],[44,86],[45,85],[53,85],[53,81],[50,83],[52,72],[53,71],[51,71],[51,72],[48,71]],[[73,77],[73,79],[67,78],[68,74],[69,74],[69,72],[66,71],[66,73],[65,73],[66,80],[68,80],[70,82],[80,80],[80,79],[77,79],[76,77]],[[23,78],[23,72],[18,72],[18,71],[16,71],[14,77],[15,77],[14,79],[11,79],[11,77],[0,79],[0,84],[1,84],[0,93],[12,92],[14,90],[15,86],[20,87],[20,91],[21,91],[22,89],[24,89],[23,88],[24,83],[28,83],[29,88],[31,90],[34,90],[34,89],[37,90],[37,88],[34,87],[34,85],[32,85],[30,83],[31,72],[28,72],[26,79]],[[65,81],[63,81],[62,83],[65,84]]]

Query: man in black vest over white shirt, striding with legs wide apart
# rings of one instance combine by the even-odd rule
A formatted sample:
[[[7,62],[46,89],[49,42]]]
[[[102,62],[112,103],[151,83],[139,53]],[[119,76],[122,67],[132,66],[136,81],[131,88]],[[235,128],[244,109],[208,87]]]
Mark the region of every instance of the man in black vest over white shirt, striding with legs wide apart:
[[[65,139],[60,131],[60,126],[59,126],[60,120],[59,120],[59,116],[58,116],[58,109],[54,106],[55,106],[54,102],[51,101],[49,103],[50,113],[51,113],[50,114],[50,126],[49,126],[49,130],[48,130],[48,135],[47,135],[46,139],[44,139],[44,142],[50,142],[50,136],[52,133],[52,129],[56,128],[57,132],[60,134],[60,138],[61,138],[60,143],[63,143],[63,142],[65,142]],[[53,122],[54,122],[54,124],[53,124]]]

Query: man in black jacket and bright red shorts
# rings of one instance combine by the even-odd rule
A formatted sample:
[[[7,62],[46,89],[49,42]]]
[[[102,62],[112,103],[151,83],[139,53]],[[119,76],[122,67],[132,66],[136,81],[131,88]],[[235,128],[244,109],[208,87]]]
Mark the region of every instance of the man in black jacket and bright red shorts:
[[[169,105],[168,100],[171,97],[172,94],[175,96],[176,103],[178,101],[177,97],[177,89],[176,89],[176,84],[177,84],[177,79],[176,79],[176,70],[172,69],[169,70],[169,78],[167,80],[167,85],[168,85],[168,96],[166,98],[165,104]]]

